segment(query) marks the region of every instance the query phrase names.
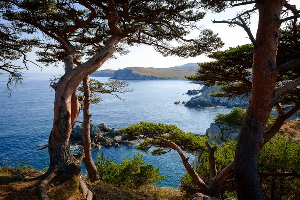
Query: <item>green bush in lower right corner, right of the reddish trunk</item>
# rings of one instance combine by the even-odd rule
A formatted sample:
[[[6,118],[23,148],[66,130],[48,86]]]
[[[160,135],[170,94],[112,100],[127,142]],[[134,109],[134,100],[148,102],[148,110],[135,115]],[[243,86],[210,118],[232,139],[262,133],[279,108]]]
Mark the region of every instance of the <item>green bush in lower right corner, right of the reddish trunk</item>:
[[[266,173],[300,172],[300,142],[276,135],[259,152],[258,169]],[[263,192],[269,199],[297,199],[299,178],[260,176]],[[274,191],[272,196],[272,190]]]

